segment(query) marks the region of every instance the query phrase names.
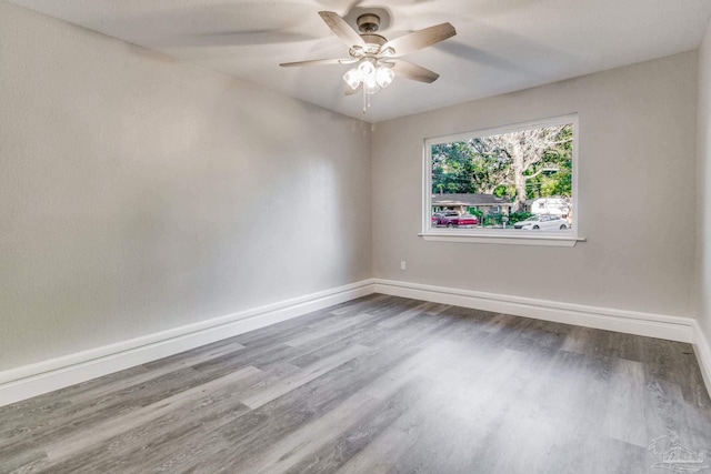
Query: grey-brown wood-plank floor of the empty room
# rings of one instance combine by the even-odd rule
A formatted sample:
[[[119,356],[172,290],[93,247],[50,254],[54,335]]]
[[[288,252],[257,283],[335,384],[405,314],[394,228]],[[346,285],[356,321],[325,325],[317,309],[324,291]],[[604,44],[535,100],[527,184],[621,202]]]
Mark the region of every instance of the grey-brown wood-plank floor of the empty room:
[[[1,473],[709,464],[689,344],[383,295],[0,409]]]

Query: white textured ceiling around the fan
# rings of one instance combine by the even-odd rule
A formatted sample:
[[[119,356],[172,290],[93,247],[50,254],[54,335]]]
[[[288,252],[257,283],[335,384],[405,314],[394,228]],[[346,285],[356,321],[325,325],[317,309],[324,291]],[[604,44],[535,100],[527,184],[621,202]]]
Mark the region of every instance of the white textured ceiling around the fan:
[[[370,122],[689,51],[711,17],[711,0],[12,2]],[[390,11],[388,39],[444,21],[458,34],[405,58],[438,81],[398,78],[363,115],[360,94],[343,95],[348,65],[278,64],[347,56],[318,11],[368,7]]]

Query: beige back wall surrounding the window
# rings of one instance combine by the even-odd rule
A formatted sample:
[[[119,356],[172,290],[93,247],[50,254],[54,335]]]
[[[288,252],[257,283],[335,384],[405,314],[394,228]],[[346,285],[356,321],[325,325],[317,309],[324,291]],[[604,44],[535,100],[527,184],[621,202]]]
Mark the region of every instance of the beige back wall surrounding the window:
[[[378,123],[377,278],[693,316],[697,53]],[[424,242],[422,140],[579,113],[573,249]],[[407,270],[400,270],[400,261]]]

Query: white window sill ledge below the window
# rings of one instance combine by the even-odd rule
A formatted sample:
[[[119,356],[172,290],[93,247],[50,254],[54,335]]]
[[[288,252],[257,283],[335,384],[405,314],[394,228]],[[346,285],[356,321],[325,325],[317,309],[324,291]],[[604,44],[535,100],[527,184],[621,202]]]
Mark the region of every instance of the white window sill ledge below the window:
[[[418,234],[425,241],[431,242],[463,242],[463,243],[497,243],[502,245],[544,245],[544,246],[575,246],[578,242],[585,239],[573,234],[553,235],[540,232],[527,232],[511,234],[510,232],[485,232],[477,233],[449,231],[449,232],[425,232]]]

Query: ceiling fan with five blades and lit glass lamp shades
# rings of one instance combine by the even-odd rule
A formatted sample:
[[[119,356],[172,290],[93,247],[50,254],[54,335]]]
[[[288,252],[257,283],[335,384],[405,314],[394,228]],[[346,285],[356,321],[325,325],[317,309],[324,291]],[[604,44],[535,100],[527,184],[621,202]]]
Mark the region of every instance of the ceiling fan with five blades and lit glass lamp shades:
[[[395,74],[419,82],[434,82],[439,78],[437,72],[399,58],[457,34],[457,30],[450,23],[441,23],[389,41],[377,34],[380,28],[380,16],[377,13],[365,12],[358,17],[356,22],[360,32],[353,30],[336,12],[320,11],[319,14],[331,31],[349,47],[350,58],[314,59],[284,62],[279,65],[292,68],[358,63],[343,74],[343,81],[346,81],[347,95],[363,91],[363,113],[370,107],[370,95],[390,85]]]

